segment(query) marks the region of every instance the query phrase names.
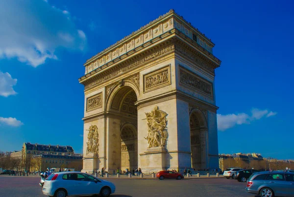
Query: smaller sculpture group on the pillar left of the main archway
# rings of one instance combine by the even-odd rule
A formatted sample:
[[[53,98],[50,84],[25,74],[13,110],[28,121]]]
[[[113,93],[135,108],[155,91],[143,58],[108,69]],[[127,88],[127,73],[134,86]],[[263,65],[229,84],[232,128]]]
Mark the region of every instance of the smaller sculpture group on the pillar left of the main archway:
[[[89,153],[98,153],[98,128],[96,125],[91,125],[87,131],[89,131],[89,133],[86,154],[88,155]]]

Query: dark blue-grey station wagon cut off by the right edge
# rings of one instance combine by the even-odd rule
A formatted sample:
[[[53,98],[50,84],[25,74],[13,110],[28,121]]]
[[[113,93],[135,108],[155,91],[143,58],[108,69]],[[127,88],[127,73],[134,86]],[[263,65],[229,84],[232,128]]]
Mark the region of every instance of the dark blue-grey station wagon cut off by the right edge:
[[[294,197],[294,173],[265,171],[253,173],[247,181],[246,191],[262,197]]]

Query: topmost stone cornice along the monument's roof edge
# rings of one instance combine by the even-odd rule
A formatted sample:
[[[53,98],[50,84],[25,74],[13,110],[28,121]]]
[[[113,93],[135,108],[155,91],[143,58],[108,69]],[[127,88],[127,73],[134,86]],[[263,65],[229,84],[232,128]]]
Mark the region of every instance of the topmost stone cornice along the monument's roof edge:
[[[147,32],[151,28],[156,27],[156,25],[159,25],[159,23],[162,23],[163,21],[167,21],[167,20],[169,20],[171,18],[174,18],[175,20],[177,20],[177,22],[183,23],[183,31],[186,30],[187,32],[189,32],[189,31],[192,30],[196,35],[198,35],[199,37],[201,37],[201,39],[203,39],[205,42],[207,42],[209,45],[211,45],[211,47],[214,47],[214,43],[212,43],[211,39],[207,38],[205,36],[205,34],[201,33],[197,28],[195,28],[194,26],[192,26],[191,23],[189,23],[188,21],[186,21],[182,16],[178,15],[177,13],[174,12],[174,10],[171,9],[168,13],[164,14],[163,16],[159,16],[159,18],[157,18],[154,21],[148,23],[146,26],[143,26],[140,29],[138,29],[137,31],[132,32],[130,35],[124,37],[122,40],[118,41],[114,45],[111,45],[107,49],[105,49],[102,52],[98,53],[97,55],[91,57],[90,59],[88,59],[86,61],[86,63],[84,65],[87,65],[90,62],[92,62],[93,60],[98,59],[99,57],[101,57],[103,55],[106,55],[107,53],[111,52],[111,50],[113,50],[114,48],[119,49],[120,47],[123,47],[123,45],[127,44],[128,41],[131,41],[131,39],[134,39],[137,36],[140,36],[140,34],[144,33],[144,31]],[[174,26],[174,23],[176,23],[176,21],[172,22],[171,26],[169,26],[168,29],[177,28],[177,27]],[[186,26],[186,27],[188,27],[190,29],[186,29],[186,28],[184,28],[184,26]],[[179,27],[181,27],[181,24],[180,24]],[[162,24],[161,24],[161,28],[162,28]],[[190,34],[190,32],[188,34]],[[141,36],[143,36],[143,34]],[[190,38],[192,39],[192,37],[190,37]],[[138,37],[138,40],[139,39],[140,38]],[[139,41],[138,41],[138,43],[139,43]],[[105,59],[103,61],[105,61]]]

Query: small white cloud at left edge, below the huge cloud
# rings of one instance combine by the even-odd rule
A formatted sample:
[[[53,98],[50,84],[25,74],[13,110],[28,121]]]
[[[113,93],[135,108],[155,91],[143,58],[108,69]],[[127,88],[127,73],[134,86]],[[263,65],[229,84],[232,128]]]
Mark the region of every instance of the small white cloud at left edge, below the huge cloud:
[[[8,97],[9,95],[17,94],[13,85],[17,83],[17,79],[12,79],[9,73],[2,73],[0,71],[0,95],[4,97]]]

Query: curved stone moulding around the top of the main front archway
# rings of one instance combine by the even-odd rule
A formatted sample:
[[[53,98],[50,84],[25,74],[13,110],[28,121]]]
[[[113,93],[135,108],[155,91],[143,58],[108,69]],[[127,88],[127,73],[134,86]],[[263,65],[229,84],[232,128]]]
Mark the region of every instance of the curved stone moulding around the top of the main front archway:
[[[108,96],[106,95],[107,97],[105,100],[106,112],[111,109],[111,104],[114,98],[120,93],[120,91],[122,91],[123,88],[126,88],[126,87],[130,87],[136,93],[137,100],[139,100],[139,95],[140,95],[139,87],[134,82],[130,80],[126,80],[126,81],[123,81],[122,83],[117,83],[112,87],[112,89],[109,92],[109,95]]]

